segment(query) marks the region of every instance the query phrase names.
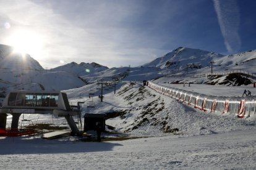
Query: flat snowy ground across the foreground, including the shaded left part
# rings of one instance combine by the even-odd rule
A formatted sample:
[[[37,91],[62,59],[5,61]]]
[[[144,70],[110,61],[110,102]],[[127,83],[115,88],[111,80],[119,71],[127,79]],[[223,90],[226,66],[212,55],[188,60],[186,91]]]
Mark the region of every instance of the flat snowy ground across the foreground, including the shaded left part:
[[[1,169],[255,169],[255,129],[114,142],[1,139]]]

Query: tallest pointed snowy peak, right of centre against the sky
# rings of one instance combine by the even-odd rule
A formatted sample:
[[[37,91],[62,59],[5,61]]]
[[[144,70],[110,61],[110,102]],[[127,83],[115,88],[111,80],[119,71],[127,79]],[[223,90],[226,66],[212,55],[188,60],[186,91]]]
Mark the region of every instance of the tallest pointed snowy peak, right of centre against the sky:
[[[159,57],[143,67],[159,67],[168,68],[169,70],[207,67],[211,60],[221,59],[224,55],[215,52],[202,51],[199,49],[190,49],[186,47],[178,47],[172,52]]]

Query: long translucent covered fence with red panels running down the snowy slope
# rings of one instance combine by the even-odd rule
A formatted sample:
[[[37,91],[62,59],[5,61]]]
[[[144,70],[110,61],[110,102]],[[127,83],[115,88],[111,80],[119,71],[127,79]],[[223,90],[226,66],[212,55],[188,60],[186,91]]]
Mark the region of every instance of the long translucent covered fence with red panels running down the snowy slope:
[[[203,111],[219,111],[223,114],[235,115],[238,118],[254,116],[256,111],[256,96],[250,97],[224,97],[198,94],[173,87],[166,87],[148,81],[148,87],[160,94],[173,97],[183,103]]]

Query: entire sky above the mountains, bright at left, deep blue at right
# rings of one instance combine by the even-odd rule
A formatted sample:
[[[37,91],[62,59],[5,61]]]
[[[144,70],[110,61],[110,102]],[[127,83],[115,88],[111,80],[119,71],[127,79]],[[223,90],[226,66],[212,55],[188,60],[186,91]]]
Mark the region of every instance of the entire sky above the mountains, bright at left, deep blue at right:
[[[44,67],[139,66],[179,46],[236,54],[256,49],[251,0],[0,0],[0,44]]]

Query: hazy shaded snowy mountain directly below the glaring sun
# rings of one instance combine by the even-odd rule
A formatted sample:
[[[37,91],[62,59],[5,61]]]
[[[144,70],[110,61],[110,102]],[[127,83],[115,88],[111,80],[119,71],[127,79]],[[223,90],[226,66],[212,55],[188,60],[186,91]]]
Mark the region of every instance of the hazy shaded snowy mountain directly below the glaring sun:
[[[12,89],[64,90],[85,83],[72,73],[48,71],[30,55],[14,53],[12,47],[0,44],[0,92]]]

